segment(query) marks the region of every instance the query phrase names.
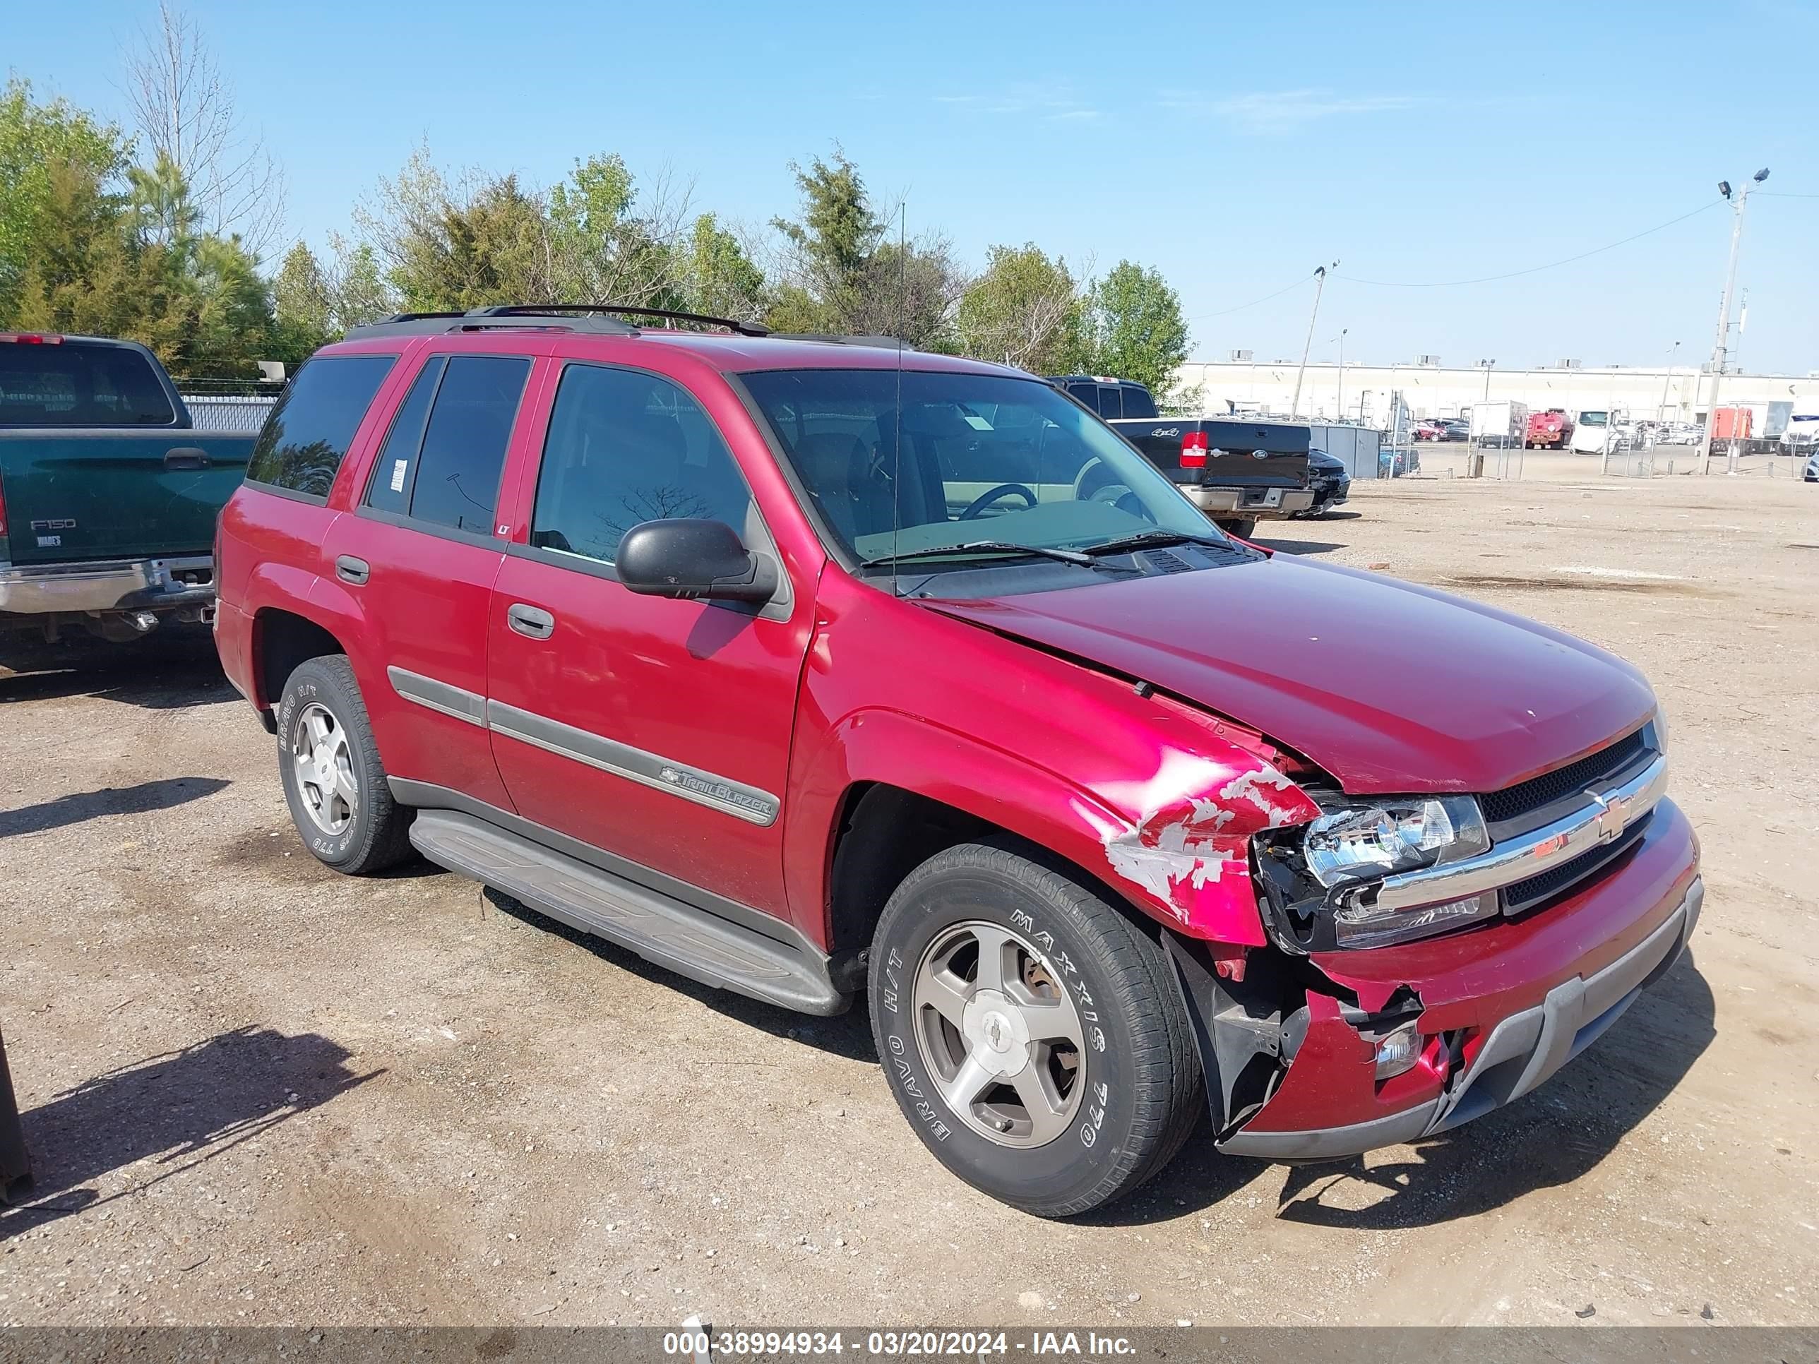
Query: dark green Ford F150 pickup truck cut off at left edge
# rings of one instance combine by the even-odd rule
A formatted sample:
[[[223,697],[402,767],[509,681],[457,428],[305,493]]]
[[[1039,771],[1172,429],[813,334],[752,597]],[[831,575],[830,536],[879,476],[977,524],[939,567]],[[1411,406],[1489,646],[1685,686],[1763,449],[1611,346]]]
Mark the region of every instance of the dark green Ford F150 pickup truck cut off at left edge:
[[[253,440],[196,431],[144,346],[0,331],[0,633],[206,620]]]

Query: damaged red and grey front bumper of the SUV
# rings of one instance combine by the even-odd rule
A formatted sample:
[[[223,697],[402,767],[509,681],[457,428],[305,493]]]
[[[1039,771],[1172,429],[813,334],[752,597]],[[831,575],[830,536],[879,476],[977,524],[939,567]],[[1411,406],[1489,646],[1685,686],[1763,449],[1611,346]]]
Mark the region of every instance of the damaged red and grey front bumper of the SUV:
[[[1664,800],[1615,869],[1561,904],[1421,942],[1315,953],[1313,964],[1366,1011],[1404,986],[1413,991],[1421,1033],[1455,1038],[1457,1060],[1424,1058],[1377,1080],[1355,1018],[1310,989],[1306,1038],[1219,1149],[1332,1160],[1432,1137],[1521,1098],[1679,958],[1704,902],[1697,866],[1692,827]]]

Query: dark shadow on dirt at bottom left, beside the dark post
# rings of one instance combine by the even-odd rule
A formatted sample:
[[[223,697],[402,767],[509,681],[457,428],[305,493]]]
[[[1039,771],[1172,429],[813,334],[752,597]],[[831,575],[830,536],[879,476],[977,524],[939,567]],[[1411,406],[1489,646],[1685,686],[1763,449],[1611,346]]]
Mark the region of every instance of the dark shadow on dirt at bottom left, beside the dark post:
[[[11,1044],[18,1060],[31,1040],[15,1033]],[[45,1033],[36,1044],[56,1040]],[[236,1028],[106,1071],[27,1109],[29,1202],[0,1208],[0,1240],[195,1169],[384,1073],[353,1073],[351,1055],[318,1033]],[[96,1180],[140,1160],[149,1173],[98,1193]]]

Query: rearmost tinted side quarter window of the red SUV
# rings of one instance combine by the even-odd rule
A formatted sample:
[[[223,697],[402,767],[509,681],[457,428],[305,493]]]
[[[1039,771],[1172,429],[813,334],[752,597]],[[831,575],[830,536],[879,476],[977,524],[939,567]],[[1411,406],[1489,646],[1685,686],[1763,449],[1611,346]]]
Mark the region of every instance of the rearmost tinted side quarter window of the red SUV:
[[[326,498],[360,418],[397,360],[395,355],[326,355],[298,369],[258,433],[246,480]]]

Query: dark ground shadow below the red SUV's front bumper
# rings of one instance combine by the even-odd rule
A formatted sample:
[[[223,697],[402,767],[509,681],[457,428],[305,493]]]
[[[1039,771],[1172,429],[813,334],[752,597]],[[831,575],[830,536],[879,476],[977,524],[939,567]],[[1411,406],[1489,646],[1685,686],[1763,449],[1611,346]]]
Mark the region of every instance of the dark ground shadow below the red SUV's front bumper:
[[[1291,1166],[1279,1215],[1310,1226],[1386,1231],[1435,1226],[1502,1208],[1592,1171],[1681,1082],[1717,1037],[1712,988],[1679,962],[1597,1042],[1535,1093],[1457,1131],[1415,1144],[1413,1157]],[[1408,1149],[1408,1148],[1404,1148]],[[1379,1197],[1328,1202],[1344,1182]],[[1368,1193],[1366,1189],[1364,1193]]]

